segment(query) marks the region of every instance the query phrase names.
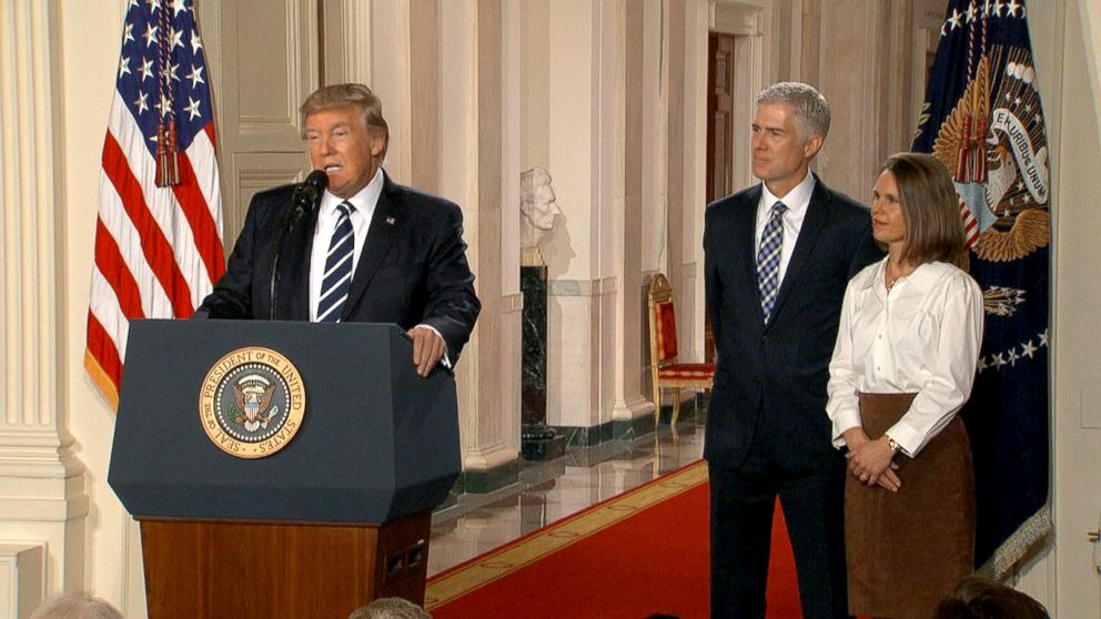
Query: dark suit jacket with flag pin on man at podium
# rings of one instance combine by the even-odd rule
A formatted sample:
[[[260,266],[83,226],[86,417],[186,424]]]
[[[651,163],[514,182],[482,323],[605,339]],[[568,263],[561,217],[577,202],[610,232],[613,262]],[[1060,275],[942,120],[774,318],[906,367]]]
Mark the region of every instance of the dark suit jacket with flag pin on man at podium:
[[[225,274],[203,301],[196,317],[267,319],[270,273],[295,185],[257,193],[230,254]],[[310,319],[310,256],[317,211],[291,230],[279,263],[275,317]],[[452,363],[469,339],[482,304],[466,261],[463,213],[446,200],[394,183],[383,189],[352,276],[342,322],[417,324],[434,327]]]

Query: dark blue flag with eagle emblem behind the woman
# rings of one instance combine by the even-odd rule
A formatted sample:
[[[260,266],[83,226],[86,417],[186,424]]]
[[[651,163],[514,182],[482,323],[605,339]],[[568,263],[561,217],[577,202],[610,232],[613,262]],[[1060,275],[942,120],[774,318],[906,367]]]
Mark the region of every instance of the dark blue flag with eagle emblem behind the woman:
[[[976,561],[1006,574],[1051,530],[1048,141],[1022,0],[951,0],[913,150],[952,173],[986,325],[962,419]]]

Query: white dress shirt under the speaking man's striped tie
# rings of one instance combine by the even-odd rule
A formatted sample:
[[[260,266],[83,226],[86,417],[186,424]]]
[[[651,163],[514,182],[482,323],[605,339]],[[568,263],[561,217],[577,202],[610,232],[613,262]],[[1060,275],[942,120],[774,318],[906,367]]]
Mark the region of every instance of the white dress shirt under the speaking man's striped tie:
[[[363,253],[363,243],[367,239],[367,229],[371,227],[371,217],[375,213],[378,204],[378,196],[382,195],[382,168],[375,172],[367,186],[358,193],[347,199],[355,206],[350,219],[352,220],[352,233],[355,235],[355,248],[352,252],[352,273],[355,273],[356,265],[360,264],[360,254]],[[329,193],[321,195],[321,206],[317,210],[317,225],[313,229],[313,251],[310,252],[310,321],[317,322],[317,303],[321,301],[321,284],[325,278],[325,257],[329,255],[329,245],[340,221],[337,206],[344,203],[343,197]]]

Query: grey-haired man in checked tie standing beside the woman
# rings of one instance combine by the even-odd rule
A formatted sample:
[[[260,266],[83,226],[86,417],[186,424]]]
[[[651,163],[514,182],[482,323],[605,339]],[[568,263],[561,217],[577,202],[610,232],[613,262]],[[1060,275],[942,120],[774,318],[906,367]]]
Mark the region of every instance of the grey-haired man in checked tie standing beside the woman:
[[[830,445],[826,382],[846,284],[881,254],[868,210],[810,173],[829,116],[807,84],[762,91],[752,122],[762,182],[707,207],[713,617],[765,616],[777,496],[804,615],[848,615],[845,458]]]

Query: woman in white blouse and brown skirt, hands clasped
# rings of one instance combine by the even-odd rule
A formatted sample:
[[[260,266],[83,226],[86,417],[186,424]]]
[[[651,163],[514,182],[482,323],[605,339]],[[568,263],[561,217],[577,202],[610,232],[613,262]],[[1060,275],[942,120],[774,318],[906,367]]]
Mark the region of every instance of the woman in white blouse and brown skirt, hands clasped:
[[[848,448],[853,615],[930,617],[973,568],[971,448],[956,414],[974,382],[982,291],[957,266],[958,204],[936,158],[888,159],[871,206],[888,255],[845,293],[827,413]]]

